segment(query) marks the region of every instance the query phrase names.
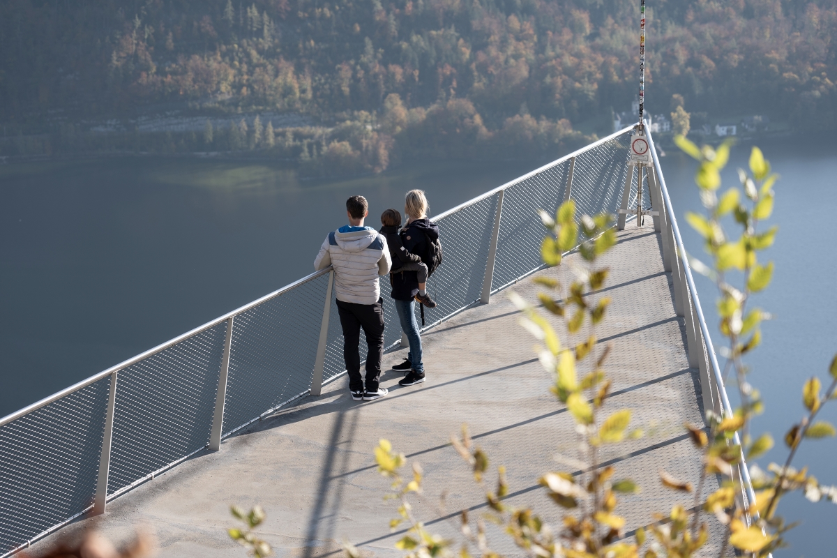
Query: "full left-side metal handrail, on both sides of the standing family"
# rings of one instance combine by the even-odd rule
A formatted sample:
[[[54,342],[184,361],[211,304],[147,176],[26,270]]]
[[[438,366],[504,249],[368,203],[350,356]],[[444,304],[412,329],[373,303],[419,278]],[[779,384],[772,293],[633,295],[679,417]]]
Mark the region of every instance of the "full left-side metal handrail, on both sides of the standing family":
[[[477,197],[471,198],[467,202],[460,203],[460,205],[458,205],[456,207],[451,207],[449,210],[447,210],[445,212],[441,212],[441,213],[439,213],[439,215],[434,216],[434,219],[441,219],[441,218],[447,217],[448,215],[450,215],[452,213],[455,213],[455,212],[458,212],[465,207],[469,207],[469,206],[475,204],[476,202],[480,202],[481,200],[484,200],[486,197],[493,196],[494,194],[496,194],[496,192],[500,192],[501,190],[505,190],[506,188],[512,187],[519,182],[525,181],[529,177],[533,177],[533,176],[537,175],[538,173],[540,173],[542,171],[546,171],[547,169],[552,168],[552,166],[560,165],[564,161],[569,161],[574,156],[578,156],[581,153],[593,150],[596,147],[602,145],[603,143],[606,143],[607,141],[610,141],[610,140],[614,139],[614,137],[617,137],[617,136],[620,136],[620,135],[624,134],[626,131],[629,131],[631,128],[632,128],[632,126],[627,126],[620,131],[614,132],[610,136],[603,137],[602,139],[600,139],[598,141],[594,141],[593,143],[588,144],[587,146],[583,146],[582,148],[577,149],[576,151],[573,151],[572,153],[570,153],[568,155],[559,157],[555,161],[549,162],[544,166],[540,166],[537,169],[535,169],[534,171],[531,171],[531,172],[523,175],[522,177],[518,177],[518,178],[516,178],[516,179],[514,179],[510,182],[506,182],[505,184],[503,184],[499,187],[496,187],[496,188],[494,188],[494,189],[492,189],[488,192],[480,194]],[[275,296],[279,296],[280,294],[283,294],[283,293],[289,291],[290,289],[294,289],[295,287],[300,286],[300,284],[305,284],[308,281],[311,281],[311,279],[316,279],[317,277],[320,277],[321,275],[326,274],[329,271],[331,271],[331,266],[329,266],[326,269],[321,269],[320,271],[316,271],[313,274],[306,275],[302,279],[297,279],[293,283],[287,284],[284,287],[282,287],[281,289],[276,289],[272,293],[265,294],[263,297],[261,297],[259,299],[255,299],[253,302],[249,302],[248,304],[246,304],[244,306],[241,306],[240,308],[237,308],[236,310],[233,310],[231,312],[228,312],[227,314],[219,316],[218,318],[215,318],[214,320],[210,320],[203,325],[198,325],[198,327],[194,328],[193,330],[189,330],[182,335],[177,335],[177,337],[174,337],[170,340],[167,340],[167,341],[161,343],[160,345],[149,349],[148,351],[144,351],[144,352],[141,352],[139,355],[132,356],[128,360],[122,361],[115,366],[110,366],[110,368],[108,368],[107,370],[100,371],[98,374],[94,374],[93,376],[90,376],[90,377],[86,378],[85,380],[74,383],[70,387],[65,387],[60,392],[55,392],[54,394],[52,394],[49,397],[44,397],[44,399],[41,399],[40,401],[34,402],[31,405],[28,405],[27,407],[23,407],[19,411],[13,412],[13,413],[11,413],[11,414],[3,417],[3,418],[0,418],[0,427],[8,424],[9,422],[17,420],[18,418],[23,417],[30,412],[37,411],[39,408],[45,407],[46,405],[49,405],[49,403],[52,403],[52,402],[55,402],[55,401],[59,400],[61,397],[67,396],[70,393],[77,392],[80,389],[88,387],[88,386],[90,386],[90,384],[94,384],[96,381],[100,381],[102,378],[110,376],[110,374],[113,374],[114,372],[121,371],[121,370],[127,368],[128,366],[134,365],[137,362],[148,358],[149,356],[154,356],[158,352],[165,351],[170,346],[177,345],[177,343],[179,343],[182,340],[188,339],[189,337],[192,337],[193,335],[198,335],[199,333],[201,333],[205,330],[208,330],[209,328],[212,328],[212,327],[222,323],[225,320],[229,320],[229,318],[232,318],[236,315],[239,315],[243,312],[246,312],[247,310],[250,310],[254,306],[258,306],[258,305],[262,304],[263,302],[274,298]]]

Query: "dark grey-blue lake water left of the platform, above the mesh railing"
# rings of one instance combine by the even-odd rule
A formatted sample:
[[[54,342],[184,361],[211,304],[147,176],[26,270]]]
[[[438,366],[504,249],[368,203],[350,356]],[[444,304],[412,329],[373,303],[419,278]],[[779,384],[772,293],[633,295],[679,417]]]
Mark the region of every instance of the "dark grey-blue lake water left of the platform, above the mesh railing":
[[[311,273],[353,194],[377,227],[412,188],[439,213],[531,167],[440,162],[304,181],[271,161],[0,166],[0,416]]]

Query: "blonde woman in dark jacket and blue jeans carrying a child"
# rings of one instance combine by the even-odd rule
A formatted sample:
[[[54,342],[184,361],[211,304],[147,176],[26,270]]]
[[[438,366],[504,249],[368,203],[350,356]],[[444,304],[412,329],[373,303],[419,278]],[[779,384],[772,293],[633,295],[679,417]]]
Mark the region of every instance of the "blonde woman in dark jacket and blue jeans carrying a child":
[[[403,247],[409,253],[417,254],[425,263],[429,259],[430,243],[439,238],[439,226],[431,223],[427,218],[428,210],[427,197],[425,197],[423,191],[410,190],[407,192],[404,199],[404,214],[407,217],[407,224],[401,231],[400,238]],[[401,322],[401,329],[407,335],[410,345],[407,359],[401,364],[393,366],[393,370],[407,373],[403,380],[398,382],[399,384],[414,386],[424,381],[421,335],[419,335],[419,322],[416,320],[414,304],[415,301],[430,307],[435,304],[426,290],[419,289],[417,272],[397,270],[389,275],[389,280],[393,285],[392,297],[395,301],[395,310],[398,311],[398,320]]]

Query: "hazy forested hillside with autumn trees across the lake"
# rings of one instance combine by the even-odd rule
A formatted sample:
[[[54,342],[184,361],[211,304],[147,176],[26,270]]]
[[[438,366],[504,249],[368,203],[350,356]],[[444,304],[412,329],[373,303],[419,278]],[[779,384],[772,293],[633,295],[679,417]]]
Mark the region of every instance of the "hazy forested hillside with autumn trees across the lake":
[[[837,0],[648,7],[651,110],[679,94],[687,110],[837,126]],[[0,120],[25,134],[59,118],[292,111],[372,128],[345,131],[356,151],[399,134],[460,155],[519,136],[546,148],[634,100],[638,28],[639,0],[3,0]]]

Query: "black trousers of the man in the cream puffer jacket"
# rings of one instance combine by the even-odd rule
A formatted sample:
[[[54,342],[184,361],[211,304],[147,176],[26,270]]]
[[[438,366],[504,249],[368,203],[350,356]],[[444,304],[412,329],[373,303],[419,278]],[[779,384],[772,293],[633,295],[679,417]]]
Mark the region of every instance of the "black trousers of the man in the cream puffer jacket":
[[[358,305],[337,300],[340,325],[343,326],[343,358],[349,373],[349,389],[363,391],[361,376],[361,328],[367,336],[366,391],[377,392],[381,379],[381,358],[383,357],[383,299],[373,305]]]

